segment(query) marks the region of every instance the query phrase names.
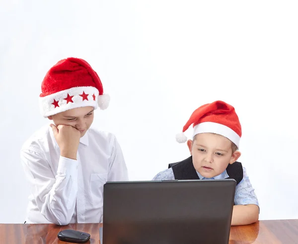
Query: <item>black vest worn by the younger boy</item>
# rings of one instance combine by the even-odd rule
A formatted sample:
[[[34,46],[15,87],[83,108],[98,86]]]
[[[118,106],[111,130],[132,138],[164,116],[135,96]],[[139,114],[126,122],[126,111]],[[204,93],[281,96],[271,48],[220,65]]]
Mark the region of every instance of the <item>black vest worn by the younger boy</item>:
[[[178,163],[170,163],[175,179],[200,179],[192,162],[192,156]],[[236,180],[237,184],[243,179],[243,168],[240,162],[228,164],[226,167],[227,179]]]

